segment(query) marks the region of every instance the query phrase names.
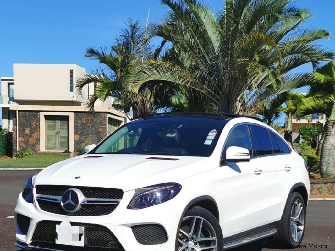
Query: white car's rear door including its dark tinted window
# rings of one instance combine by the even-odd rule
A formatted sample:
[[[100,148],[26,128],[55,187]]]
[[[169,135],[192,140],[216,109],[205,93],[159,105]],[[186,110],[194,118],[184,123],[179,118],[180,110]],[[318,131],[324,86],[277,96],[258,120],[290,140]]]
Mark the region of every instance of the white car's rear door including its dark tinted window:
[[[262,176],[260,199],[257,203],[259,225],[266,225],[280,220],[287,197],[285,188],[285,158],[283,157],[273,132],[256,125],[249,125],[253,143],[255,171]]]

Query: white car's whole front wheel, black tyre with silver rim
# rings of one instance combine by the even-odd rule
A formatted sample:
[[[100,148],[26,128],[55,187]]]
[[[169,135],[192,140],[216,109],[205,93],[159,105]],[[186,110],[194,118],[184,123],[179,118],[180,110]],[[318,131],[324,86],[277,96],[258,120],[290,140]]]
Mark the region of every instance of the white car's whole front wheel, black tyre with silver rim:
[[[205,208],[193,207],[186,212],[181,221],[176,247],[177,251],[194,251],[194,247],[208,247],[206,251],[222,251],[223,237],[220,224]]]

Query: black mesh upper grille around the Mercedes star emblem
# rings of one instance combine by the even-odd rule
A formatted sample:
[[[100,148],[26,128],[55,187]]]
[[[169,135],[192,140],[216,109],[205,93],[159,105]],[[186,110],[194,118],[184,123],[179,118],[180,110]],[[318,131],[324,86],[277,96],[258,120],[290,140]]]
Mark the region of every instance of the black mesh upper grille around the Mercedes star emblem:
[[[81,190],[86,198],[99,199],[122,199],[123,191],[114,188],[83,187],[83,186],[57,186],[57,185],[38,185],[36,194],[62,196],[69,188]],[[82,204],[77,212],[66,212],[60,203],[45,200],[37,200],[41,210],[59,215],[70,216],[99,216],[111,214],[118,204]]]

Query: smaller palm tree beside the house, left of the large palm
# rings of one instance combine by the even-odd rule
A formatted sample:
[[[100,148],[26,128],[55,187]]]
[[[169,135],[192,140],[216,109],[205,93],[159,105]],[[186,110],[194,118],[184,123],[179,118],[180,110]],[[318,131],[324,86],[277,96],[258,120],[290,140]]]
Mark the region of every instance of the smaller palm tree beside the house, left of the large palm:
[[[94,103],[97,99],[106,100],[108,97],[114,97],[115,109],[123,111],[128,117],[132,109],[132,118],[138,118],[143,114],[164,108],[170,103],[169,100],[174,91],[163,83],[147,85],[138,93],[129,91],[124,84],[131,64],[159,57],[161,46],[153,50],[144,37],[145,27],[139,21],[133,22],[130,19],[127,28],[121,30],[116,44],[111,46],[109,51],[106,48],[86,50],[85,58],[98,60],[104,65],[104,68],[97,69],[93,74],[85,74],[77,81],[76,90],[79,93],[85,85],[95,83],[94,94],[86,103],[89,110],[94,111]]]

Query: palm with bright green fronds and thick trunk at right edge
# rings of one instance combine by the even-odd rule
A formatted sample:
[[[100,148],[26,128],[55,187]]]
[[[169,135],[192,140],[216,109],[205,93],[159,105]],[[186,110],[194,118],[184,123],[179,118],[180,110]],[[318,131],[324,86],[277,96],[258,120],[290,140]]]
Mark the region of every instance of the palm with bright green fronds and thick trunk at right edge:
[[[335,63],[319,67],[314,76],[316,82],[309,88],[297,115],[326,115],[325,130],[319,143],[320,173],[322,177],[335,177]]]

